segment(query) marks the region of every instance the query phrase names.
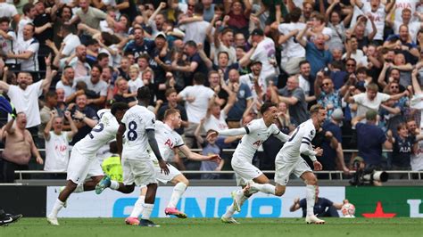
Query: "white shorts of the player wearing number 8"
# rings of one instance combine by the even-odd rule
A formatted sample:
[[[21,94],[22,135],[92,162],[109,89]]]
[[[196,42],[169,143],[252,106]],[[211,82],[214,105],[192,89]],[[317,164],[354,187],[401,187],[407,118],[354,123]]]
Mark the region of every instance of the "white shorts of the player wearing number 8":
[[[122,170],[125,185],[157,184],[153,161],[150,159],[122,159]]]

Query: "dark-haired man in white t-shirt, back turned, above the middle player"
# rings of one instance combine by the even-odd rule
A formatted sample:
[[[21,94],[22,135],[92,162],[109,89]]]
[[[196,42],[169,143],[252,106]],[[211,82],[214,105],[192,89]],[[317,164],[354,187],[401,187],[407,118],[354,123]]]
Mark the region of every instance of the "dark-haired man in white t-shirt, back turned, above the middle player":
[[[205,75],[201,72],[194,74],[194,86],[187,86],[178,94],[178,101],[185,101],[188,116],[188,127],[185,129],[185,142],[188,147],[194,144],[195,128],[205,117],[210,100],[214,99],[214,91],[203,86]]]

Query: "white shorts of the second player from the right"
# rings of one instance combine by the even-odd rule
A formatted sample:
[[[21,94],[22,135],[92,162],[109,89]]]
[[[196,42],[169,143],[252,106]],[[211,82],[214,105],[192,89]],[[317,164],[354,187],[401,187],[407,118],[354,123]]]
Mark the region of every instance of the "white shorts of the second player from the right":
[[[231,160],[232,169],[235,171],[236,185],[243,186],[248,181],[261,176],[263,172],[259,168],[253,166],[252,163],[245,159],[238,159],[234,155]]]

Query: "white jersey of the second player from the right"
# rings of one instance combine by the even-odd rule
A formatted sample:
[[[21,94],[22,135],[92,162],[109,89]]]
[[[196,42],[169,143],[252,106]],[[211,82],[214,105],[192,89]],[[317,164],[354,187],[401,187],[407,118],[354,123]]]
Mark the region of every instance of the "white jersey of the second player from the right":
[[[245,129],[247,129],[247,134],[236,146],[234,158],[245,159],[249,162],[253,160],[254,153],[259,149],[261,143],[266,141],[270,135],[281,133],[275,124],[267,127],[263,119],[253,119]]]

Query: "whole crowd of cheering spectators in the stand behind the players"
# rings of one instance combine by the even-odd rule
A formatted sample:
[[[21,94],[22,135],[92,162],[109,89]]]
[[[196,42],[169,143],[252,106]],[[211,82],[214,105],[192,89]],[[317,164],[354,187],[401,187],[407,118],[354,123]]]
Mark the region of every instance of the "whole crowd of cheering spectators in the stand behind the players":
[[[423,169],[421,0],[0,0],[0,52],[0,89],[21,112],[1,137],[28,148],[4,151],[2,170],[31,153],[42,163],[46,147],[45,169],[65,171],[97,112],[137,104],[141,86],[157,119],[181,111],[178,133],[203,152],[234,148],[240,137],[204,135],[260,118],[263,102],[278,103],[286,134],[320,103],[324,170],[348,172],[346,148],[375,168]],[[281,146],[270,138],[255,164],[274,168]]]

